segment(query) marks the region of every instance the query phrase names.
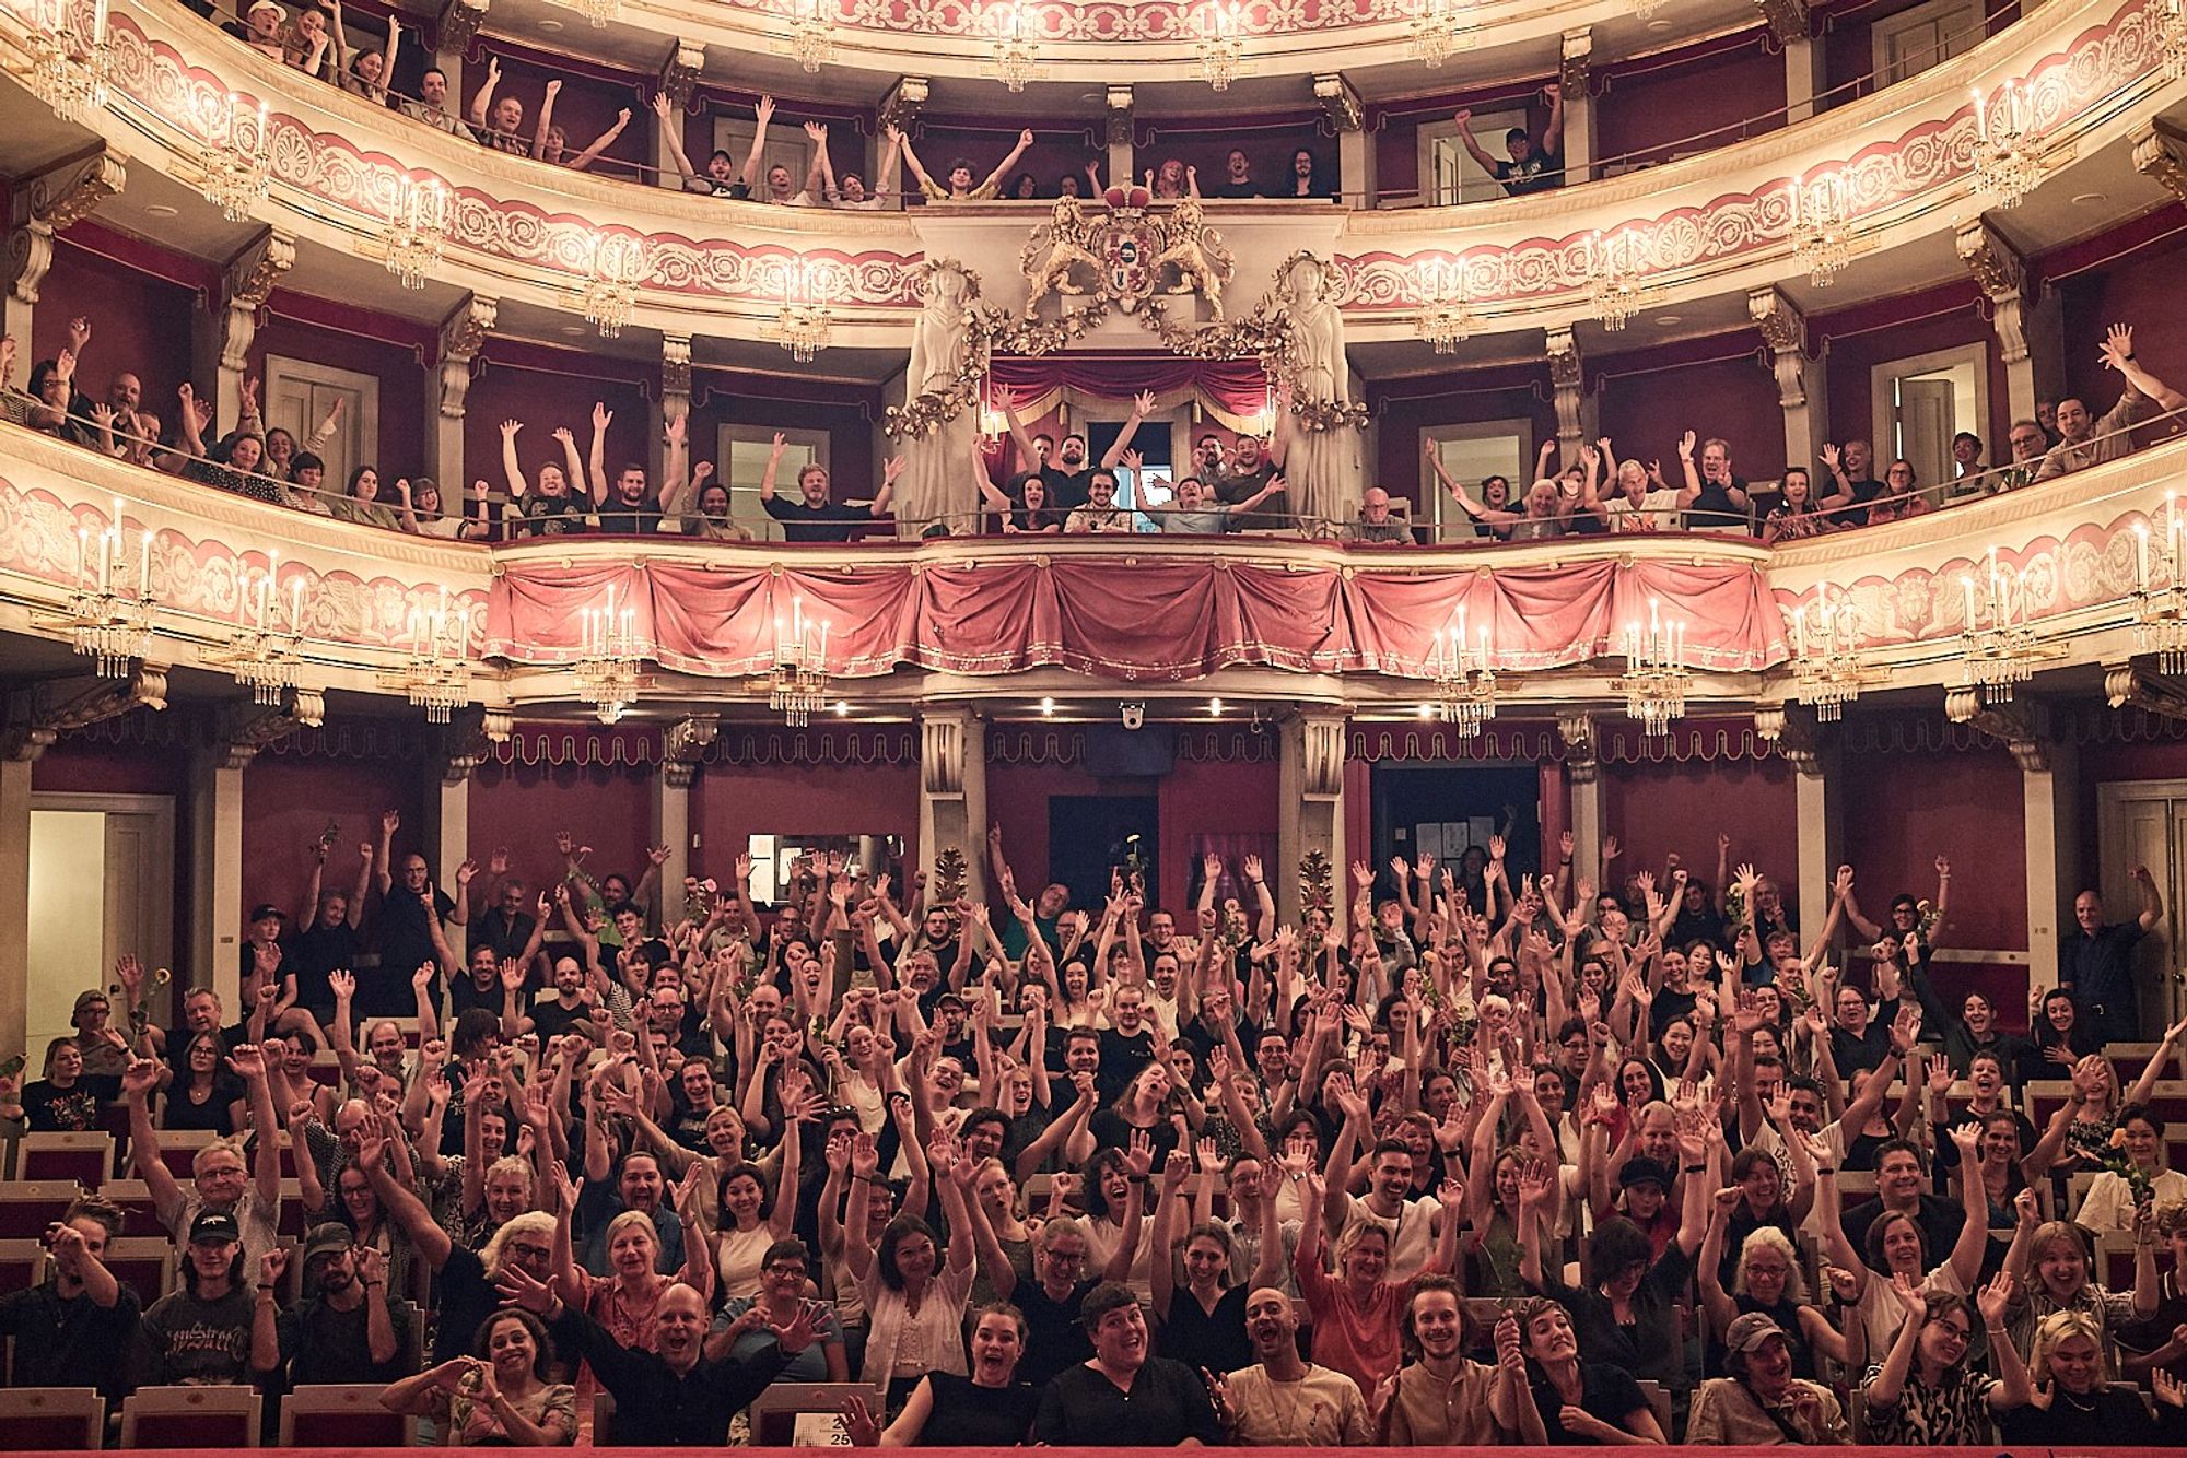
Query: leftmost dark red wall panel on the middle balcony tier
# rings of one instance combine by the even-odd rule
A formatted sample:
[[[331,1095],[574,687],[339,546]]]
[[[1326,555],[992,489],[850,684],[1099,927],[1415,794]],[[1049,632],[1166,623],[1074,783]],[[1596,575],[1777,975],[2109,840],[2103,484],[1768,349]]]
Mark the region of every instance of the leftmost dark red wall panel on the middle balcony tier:
[[[52,358],[68,343],[68,321],[81,315],[92,321],[92,343],[77,363],[77,389],[105,400],[114,376],[127,369],[144,385],[144,407],[173,426],[179,411],[175,391],[190,378],[195,308],[195,289],[77,247],[61,234],[52,247],[52,271],[39,284],[15,385],[31,378],[35,361]],[[210,389],[212,383],[197,385]]]

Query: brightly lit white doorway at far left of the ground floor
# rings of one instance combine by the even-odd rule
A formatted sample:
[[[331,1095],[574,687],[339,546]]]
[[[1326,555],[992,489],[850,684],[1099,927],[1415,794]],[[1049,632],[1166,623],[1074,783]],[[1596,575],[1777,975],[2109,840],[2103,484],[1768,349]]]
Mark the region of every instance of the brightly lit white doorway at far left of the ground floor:
[[[168,796],[31,796],[28,1054],[70,1032],[77,995],[114,962],[175,962],[175,802]],[[118,1012],[118,1010],[116,1010]],[[153,1016],[166,1021],[164,1001]],[[120,1027],[122,1019],[116,1016]]]

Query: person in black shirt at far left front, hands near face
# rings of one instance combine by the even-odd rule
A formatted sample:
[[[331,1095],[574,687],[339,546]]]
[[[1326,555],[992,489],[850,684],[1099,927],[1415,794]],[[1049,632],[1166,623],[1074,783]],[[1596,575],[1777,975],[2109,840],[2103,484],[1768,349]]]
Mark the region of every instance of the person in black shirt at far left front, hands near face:
[[[142,1307],[101,1257],[122,1231],[122,1213],[96,1196],[74,1200],[46,1233],[52,1274],[0,1296],[0,1338],[15,1338],[9,1386],[98,1388],[107,1401],[129,1390],[129,1344]]]

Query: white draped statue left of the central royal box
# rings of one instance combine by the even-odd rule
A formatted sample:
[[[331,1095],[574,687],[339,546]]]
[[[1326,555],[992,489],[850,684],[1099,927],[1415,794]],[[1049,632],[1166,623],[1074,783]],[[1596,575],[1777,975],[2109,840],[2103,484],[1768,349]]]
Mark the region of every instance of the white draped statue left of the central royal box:
[[[971,299],[980,284],[956,258],[927,264],[927,302],[912,328],[912,361],[903,374],[903,404],[923,393],[958,389],[971,350]],[[980,411],[967,398],[956,415],[925,435],[903,437],[903,474],[897,477],[897,538],[916,540],[940,522],[951,533],[980,527]]]

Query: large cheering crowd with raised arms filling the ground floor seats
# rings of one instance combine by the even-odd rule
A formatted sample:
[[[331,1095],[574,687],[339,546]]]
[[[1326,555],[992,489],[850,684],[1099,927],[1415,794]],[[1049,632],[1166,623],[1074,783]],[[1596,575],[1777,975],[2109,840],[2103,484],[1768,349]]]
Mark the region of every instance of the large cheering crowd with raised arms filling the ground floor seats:
[[[125,960],[0,1080],[125,1128],[182,1255],[140,1307],[85,1191],[0,1296],[11,1384],[370,1381],[451,1445],[580,1441],[593,1392],[593,1441],[722,1445],[816,1381],[853,1445],[2187,1438],[2141,868],[2023,1036],[1933,955],[1944,857],[1881,920],[1841,868],[1802,938],[1730,837],[1594,885],[1498,835],[1352,866],[1338,931],[1253,857],[1078,907],[999,828],[989,901],[811,850],[768,909],[744,855],[442,890],[400,835],[267,887],[241,1021]],[[219,1134],[188,1178],[168,1130]]]

